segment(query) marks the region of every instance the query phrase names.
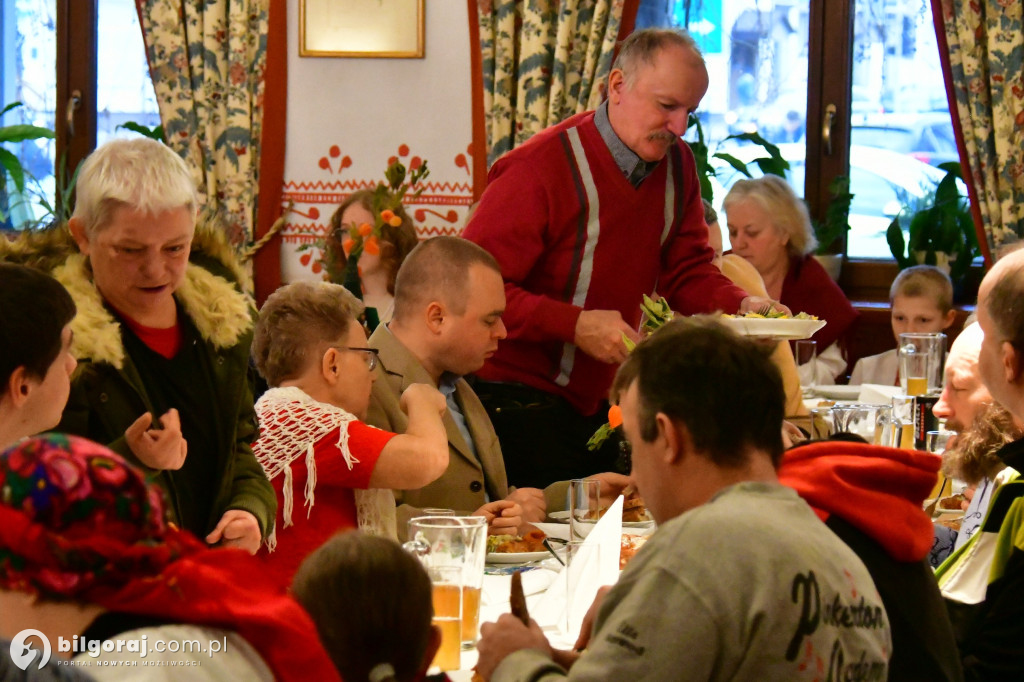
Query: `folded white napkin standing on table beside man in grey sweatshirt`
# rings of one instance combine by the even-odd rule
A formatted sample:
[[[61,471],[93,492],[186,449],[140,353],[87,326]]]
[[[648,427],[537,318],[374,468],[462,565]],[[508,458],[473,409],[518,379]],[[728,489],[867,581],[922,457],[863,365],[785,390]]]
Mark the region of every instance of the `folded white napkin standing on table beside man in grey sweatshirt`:
[[[579,629],[579,623],[594,601],[594,597],[597,596],[598,589],[618,580],[618,553],[622,547],[622,535],[623,498],[620,496],[584,541],[585,548],[601,548],[597,559],[598,565],[587,561],[578,561],[573,562],[570,567],[569,578],[575,586],[573,593],[575,608],[570,614],[573,616],[574,629]],[[582,552],[582,556],[586,556],[586,549]],[[537,606],[530,609],[530,615],[542,628],[555,627],[561,634],[574,637],[577,633],[567,632],[566,607],[566,568],[562,567]]]

